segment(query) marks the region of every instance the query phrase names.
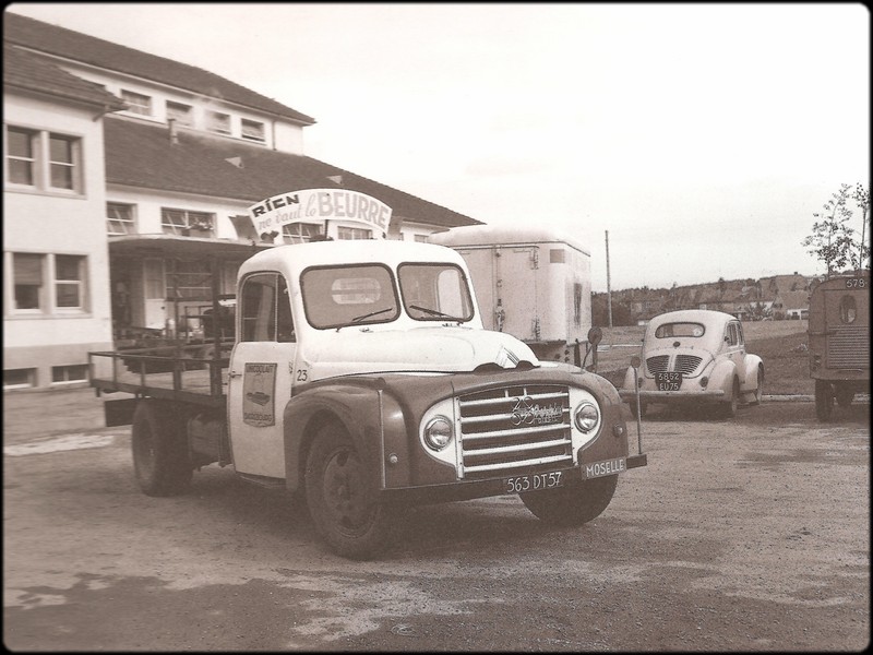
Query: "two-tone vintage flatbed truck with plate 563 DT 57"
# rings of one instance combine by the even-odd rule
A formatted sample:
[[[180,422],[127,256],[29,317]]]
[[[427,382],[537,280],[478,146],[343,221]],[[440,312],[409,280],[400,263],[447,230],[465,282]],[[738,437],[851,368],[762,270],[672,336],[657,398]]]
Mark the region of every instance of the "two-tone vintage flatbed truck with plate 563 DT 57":
[[[132,424],[150,496],[231,464],[301,497],[335,552],[366,559],[406,505],[515,493],[578,525],[646,465],[614,386],[485,330],[450,248],[277,246],[241,265],[236,310],[229,356],[164,356],[163,373],[146,372],[147,353],[89,356],[97,395],[132,394],[105,402],[107,426]]]

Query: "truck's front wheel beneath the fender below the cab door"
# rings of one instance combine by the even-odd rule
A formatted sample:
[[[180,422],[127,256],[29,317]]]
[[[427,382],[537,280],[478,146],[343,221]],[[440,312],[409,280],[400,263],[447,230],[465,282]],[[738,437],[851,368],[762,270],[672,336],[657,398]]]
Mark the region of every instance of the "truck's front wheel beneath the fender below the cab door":
[[[319,428],[307,455],[307,505],[319,537],[354,560],[381,552],[396,523],[392,508],[378,502],[369,476],[339,424]]]

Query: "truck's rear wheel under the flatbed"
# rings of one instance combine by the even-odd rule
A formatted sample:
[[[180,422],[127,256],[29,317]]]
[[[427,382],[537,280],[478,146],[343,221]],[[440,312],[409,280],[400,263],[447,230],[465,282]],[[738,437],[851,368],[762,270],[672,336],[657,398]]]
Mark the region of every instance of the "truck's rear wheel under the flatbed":
[[[133,472],[146,496],[176,496],[191,485],[193,467],[186,434],[171,412],[169,403],[145,400],[133,413]]]

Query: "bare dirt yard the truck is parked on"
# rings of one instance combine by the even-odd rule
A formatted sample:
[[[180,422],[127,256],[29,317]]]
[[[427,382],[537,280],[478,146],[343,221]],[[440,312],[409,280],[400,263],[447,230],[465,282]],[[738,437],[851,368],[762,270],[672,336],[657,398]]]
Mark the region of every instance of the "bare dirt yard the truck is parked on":
[[[629,416],[630,420],[630,416]],[[633,424],[629,424],[633,426]],[[4,448],[4,644],[16,651],[860,650],[870,406],[653,416],[649,465],[577,529],[515,497],[412,511],[380,560],[229,469],[143,496],[129,429]],[[634,428],[635,432],[635,428]],[[63,449],[63,450],[61,450]]]

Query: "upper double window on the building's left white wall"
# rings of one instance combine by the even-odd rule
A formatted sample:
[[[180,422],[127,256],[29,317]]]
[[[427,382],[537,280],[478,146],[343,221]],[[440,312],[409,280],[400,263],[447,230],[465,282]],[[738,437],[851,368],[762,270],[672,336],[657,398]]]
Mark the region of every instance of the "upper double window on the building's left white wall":
[[[81,139],[7,128],[7,182],[35,190],[81,192]]]

